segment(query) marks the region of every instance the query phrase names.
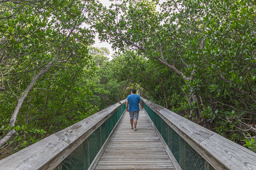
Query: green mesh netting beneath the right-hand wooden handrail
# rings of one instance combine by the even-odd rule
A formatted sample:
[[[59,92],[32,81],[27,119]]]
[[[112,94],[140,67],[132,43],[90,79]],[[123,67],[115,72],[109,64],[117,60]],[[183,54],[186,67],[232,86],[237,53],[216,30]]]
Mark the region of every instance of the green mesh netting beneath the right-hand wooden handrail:
[[[144,102],[143,106],[183,170],[215,170],[214,167],[180,137],[154,110]]]

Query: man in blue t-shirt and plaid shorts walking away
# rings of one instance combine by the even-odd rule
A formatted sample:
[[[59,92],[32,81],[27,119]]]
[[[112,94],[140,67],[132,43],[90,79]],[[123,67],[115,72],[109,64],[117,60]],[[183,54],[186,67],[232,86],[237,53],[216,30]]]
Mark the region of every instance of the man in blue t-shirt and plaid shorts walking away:
[[[132,89],[131,94],[128,95],[127,100],[126,100],[126,112],[129,111],[130,114],[130,123],[131,123],[131,128],[137,131],[137,121],[139,118],[139,103],[143,109],[143,104],[140,99],[140,96],[136,94],[136,90]],[[128,104],[129,104],[129,109],[128,109]],[[134,125],[134,126],[133,126]]]

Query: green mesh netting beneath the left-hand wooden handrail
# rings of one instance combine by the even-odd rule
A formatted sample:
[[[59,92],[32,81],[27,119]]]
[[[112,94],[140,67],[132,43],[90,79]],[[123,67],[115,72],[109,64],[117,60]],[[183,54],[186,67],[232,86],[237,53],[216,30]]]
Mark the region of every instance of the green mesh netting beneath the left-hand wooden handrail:
[[[120,106],[99,128],[97,128],[79,147],[54,170],[86,170],[98,154],[100,148],[109,137],[125,110],[125,104]]]

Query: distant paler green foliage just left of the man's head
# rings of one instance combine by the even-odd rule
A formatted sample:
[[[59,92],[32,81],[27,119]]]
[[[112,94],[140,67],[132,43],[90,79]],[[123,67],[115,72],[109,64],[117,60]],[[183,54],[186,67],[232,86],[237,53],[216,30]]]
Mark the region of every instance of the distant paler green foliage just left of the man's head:
[[[116,79],[115,64],[106,57],[109,55],[107,48],[90,47],[97,70],[95,76],[88,79],[92,84],[94,97],[90,100],[92,105],[97,105],[100,110],[113,105],[127,97],[129,81],[118,81]]]

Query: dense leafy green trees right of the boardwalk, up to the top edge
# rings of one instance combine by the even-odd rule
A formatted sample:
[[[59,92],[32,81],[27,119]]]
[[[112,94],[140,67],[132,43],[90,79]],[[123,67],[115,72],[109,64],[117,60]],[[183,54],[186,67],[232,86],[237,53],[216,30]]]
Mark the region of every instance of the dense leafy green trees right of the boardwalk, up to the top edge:
[[[94,27],[123,54],[137,51],[134,62],[115,59],[120,80],[194,122],[199,110],[202,126],[244,145],[256,132],[255,9],[250,0],[131,0],[103,8]]]

